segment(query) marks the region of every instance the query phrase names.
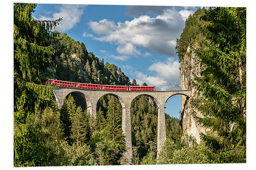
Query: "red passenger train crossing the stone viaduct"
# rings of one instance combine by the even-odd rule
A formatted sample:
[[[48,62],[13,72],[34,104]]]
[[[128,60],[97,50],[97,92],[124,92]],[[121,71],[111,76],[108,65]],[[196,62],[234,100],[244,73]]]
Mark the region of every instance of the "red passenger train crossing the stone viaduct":
[[[126,90],[126,91],[156,91],[155,86],[117,86],[117,85],[100,85],[87,83],[74,83],[61,80],[48,79],[46,84],[60,85],[66,87],[77,87],[99,90]]]

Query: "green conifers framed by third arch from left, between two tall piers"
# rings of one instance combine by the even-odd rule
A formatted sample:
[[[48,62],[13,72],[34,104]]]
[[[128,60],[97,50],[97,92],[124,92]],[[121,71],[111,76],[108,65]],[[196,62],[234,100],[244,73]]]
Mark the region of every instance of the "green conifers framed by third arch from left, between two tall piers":
[[[145,95],[138,96],[131,104],[131,127],[134,164],[153,152],[156,157],[157,108],[154,101]],[[137,163],[136,163],[137,162]]]

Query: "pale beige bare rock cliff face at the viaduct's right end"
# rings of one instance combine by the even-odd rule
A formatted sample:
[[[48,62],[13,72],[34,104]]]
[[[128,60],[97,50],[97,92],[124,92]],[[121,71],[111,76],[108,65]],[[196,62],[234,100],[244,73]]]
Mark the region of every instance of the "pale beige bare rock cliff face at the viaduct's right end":
[[[190,89],[191,98],[199,98],[196,93],[196,89],[193,87],[192,81],[196,76],[200,76],[201,67],[200,61],[196,58],[195,53],[187,47],[186,55],[180,61],[180,79],[182,90]],[[200,133],[205,133],[207,129],[200,127],[197,123],[193,114],[202,117],[202,114],[197,111],[191,104],[191,100],[185,95],[182,95],[182,108],[181,108],[181,120],[180,125],[184,135],[195,137],[197,143],[200,143]]]

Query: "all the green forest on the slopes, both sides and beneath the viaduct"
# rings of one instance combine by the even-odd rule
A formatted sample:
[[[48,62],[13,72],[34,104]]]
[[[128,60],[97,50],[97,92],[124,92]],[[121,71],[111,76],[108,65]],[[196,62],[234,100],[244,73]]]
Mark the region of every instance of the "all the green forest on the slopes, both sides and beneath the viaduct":
[[[44,82],[56,78],[137,85],[136,81],[131,83],[121,68],[88,53],[82,42],[51,32],[62,18],[37,21],[31,16],[35,7],[14,4],[14,166],[126,164],[118,99],[102,96],[94,118],[87,114],[86,101],[75,93],[58,109],[54,87]],[[195,85],[207,107],[200,107],[202,101],[196,100],[195,107],[205,113],[198,122],[212,131],[202,134],[200,144],[191,137],[187,141],[179,119],[165,114],[166,142],[156,159],[157,107],[150,97],[138,96],[131,105],[132,164],[246,162],[245,13],[244,8],[199,9],[188,17],[177,41],[181,60],[190,42],[197,40],[204,46],[197,53],[205,70]]]

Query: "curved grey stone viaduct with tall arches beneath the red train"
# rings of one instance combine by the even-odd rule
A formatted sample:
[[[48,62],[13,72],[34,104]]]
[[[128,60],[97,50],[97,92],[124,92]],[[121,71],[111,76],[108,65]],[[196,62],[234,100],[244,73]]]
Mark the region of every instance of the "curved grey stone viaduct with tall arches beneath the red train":
[[[118,98],[122,105],[122,130],[126,141],[126,152],[124,156],[131,161],[132,158],[132,132],[131,132],[131,103],[139,95],[147,95],[153,98],[158,107],[158,127],[157,127],[157,157],[166,139],[164,106],[166,101],[173,95],[183,94],[188,97],[190,90],[173,91],[118,91],[118,90],[93,90],[81,88],[58,87],[53,90],[58,107],[63,105],[66,96],[72,92],[78,93],[87,103],[89,114],[96,117],[96,106],[101,96],[111,94]]]

